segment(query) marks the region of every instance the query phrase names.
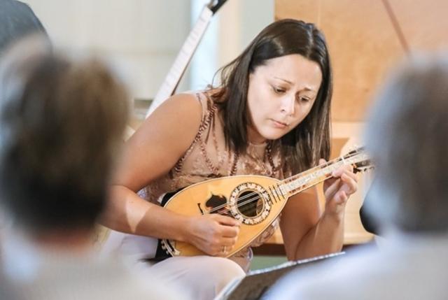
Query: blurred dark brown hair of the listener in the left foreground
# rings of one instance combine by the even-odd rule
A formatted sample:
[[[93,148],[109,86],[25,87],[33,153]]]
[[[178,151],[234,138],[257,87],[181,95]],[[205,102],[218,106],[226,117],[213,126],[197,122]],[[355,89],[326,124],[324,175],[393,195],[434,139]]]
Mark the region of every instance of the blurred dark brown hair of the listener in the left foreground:
[[[0,197],[34,234],[92,229],[122,140],[127,92],[95,59],[23,41],[0,69]]]

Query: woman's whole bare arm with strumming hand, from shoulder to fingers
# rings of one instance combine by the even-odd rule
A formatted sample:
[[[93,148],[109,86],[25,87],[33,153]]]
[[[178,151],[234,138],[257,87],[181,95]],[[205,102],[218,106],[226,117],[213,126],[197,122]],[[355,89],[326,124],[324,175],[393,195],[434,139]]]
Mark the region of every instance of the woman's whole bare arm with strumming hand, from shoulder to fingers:
[[[223,245],[232,248],[239,231],[232,218],[186,217],[136,194],[172,169],[193,142],[201,118],[200,102],[193,95],[179,94],[145,120],[125,145],[102,224],[141,236],[188,241],[211,255],[218,255]]]

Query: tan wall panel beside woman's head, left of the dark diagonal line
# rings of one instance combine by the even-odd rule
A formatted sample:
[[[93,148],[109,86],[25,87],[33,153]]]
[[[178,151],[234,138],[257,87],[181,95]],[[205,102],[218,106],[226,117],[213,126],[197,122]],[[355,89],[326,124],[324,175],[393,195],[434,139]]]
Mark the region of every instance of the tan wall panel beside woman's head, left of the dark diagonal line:
[[[276,0],[275,12],[323,30],[335,75],[332,119],[364,120],[384,74],[405,54],[382,1]]]

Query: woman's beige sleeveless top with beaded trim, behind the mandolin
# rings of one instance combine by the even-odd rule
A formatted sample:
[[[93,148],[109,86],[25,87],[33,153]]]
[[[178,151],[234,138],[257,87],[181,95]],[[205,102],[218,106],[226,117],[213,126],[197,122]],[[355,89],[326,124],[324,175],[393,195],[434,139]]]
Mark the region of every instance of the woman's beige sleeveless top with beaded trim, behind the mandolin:
[[[202,121],[193,143],[167,175],[154,180],[139,192],[139,196],[157,203],[167,192],[179,190],[211,178],[233,175],[263,175],[283,179],[279,141],[250,144],[244,155],[225,147],[223,124],[216,103],[206,92],[196,94],[202,105]],[[279,226],[279,219],[272,223],[252,247],[261,245]],[[250,259],[251,251],[246,248],[235,257]]]

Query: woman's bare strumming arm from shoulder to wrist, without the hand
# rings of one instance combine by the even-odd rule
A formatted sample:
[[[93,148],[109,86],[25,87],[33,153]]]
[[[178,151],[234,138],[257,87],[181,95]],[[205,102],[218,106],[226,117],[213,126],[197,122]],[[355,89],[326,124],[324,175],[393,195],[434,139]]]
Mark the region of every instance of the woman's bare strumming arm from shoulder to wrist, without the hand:
[[[175,235],[179,233],[177,223],[185,222],[184,217],[141,199],[136,192],[172,169],[193,142],[201,117],[202,108],[194,95],[179,94],[162,103],[141,124],[125,144],[118,162],[109,207],[102,220],[106,227],[181,238]]]

